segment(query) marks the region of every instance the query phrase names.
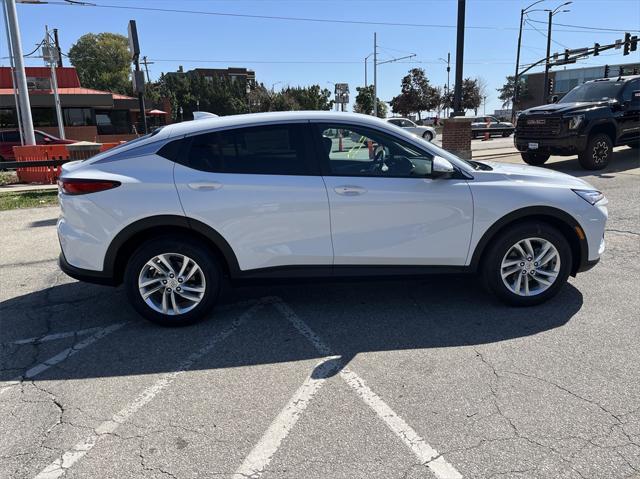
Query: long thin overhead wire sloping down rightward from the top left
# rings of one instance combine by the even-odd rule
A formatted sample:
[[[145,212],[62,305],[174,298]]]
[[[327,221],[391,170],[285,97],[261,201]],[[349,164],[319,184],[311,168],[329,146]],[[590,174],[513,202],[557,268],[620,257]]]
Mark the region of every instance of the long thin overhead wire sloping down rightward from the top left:
[[[29,4],[28,2],[26,3]],[[159,8],[159,7],[140,7],[131,5],[111,5],[111,4],[98,4],[88,2],[67,2],[67,1],[46,1],[47,5],[64,5],[67,7],[94,7],[94,8],[111,8],[119,10],[136,10],[146,12],[160,12],[160,13],[184,13],[192,15],[211,15],[220,17],[232,17],[232,18],[250,18],[260,20],[284,20],[284,21],[296,21],[296,22],[315,22],[315,23],[338,23],[349,25],[376,25],[376,26],[389,26],[389,27],[417,27],[417,28],[457,28],[456,25],[445,24],[430,24],[430,23],[404,23],[404,22],[374,22],[368,20],[341,20],[341,19],[329,19],[329,18],[312,18],[312,17],[289,17],[281,15],[253,15],[248,13],[229,13],[229,12],[211,12],[206,10],[185,10],[178,8]],[[473,26],[467,25],[465,29],[470,30],[518,30],[516,27],[498,27],[498,26]],[[562,32],[573,33],[587,33],[582,30],[556,30]],[[618,31],[618,30],[615,30]],[[636,30],[626,30],[636,31]]]

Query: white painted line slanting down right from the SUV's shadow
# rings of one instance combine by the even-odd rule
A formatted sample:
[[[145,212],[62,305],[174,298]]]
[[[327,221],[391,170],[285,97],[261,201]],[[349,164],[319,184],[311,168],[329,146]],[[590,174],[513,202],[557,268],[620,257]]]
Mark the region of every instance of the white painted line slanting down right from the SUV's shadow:
[[[331,348],[305,323],[284,301],[273,301],[278,309],[291,324],[309,340],[316,350],[323,355],[331,355]],[[398,416],[380,396],[369,388],[364,380],[348,367],[339,372],[345,382],[360,396],[376,415],[400,438],[400,440],[413,452],[421,464],[426,465],[439,479],[460,479],[462,474],[448,463],[441,454],[432,448],[427,442]]]

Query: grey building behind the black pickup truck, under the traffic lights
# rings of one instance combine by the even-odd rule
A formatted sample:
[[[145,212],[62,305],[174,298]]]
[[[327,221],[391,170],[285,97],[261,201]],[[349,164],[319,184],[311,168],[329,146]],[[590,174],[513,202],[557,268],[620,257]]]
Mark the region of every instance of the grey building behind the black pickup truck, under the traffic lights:
[[[631,75],[634,71],[640,72],[640,63],[626,63],[608,65],[609,77],[616,77],[622,74]],[[604,78],[605,66],[571,68],[565,70],[549,70],[549,78],[553,79],[553,92],[551,95],[558,95],[562,98],[574,87],[582,83]],[[534,106],[544,105],[545,100],[544,72],[530,73],[522,76],[526,84],[526,95],[522,95],[518,101],[518,110],[526,110]]]

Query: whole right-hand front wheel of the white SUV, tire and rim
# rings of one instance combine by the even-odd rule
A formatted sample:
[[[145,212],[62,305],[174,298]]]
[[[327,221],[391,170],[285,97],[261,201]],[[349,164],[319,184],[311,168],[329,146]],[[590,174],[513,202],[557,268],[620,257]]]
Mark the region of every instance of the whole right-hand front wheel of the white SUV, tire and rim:
[[[532,306],[555,296],[571,271],[571,248],[555,228],[526,222],[500,234],[487,252],[487,288],[513,306]]]

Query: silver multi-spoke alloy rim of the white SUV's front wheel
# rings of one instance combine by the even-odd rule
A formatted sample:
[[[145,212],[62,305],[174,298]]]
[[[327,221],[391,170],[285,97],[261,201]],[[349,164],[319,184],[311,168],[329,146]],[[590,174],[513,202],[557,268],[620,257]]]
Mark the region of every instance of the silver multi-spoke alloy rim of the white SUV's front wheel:
[[[543,238],[526,238],[511,246],[502,259],[500,274],[504,285],[518,296],[545,292],[560,273],[560,254]]]

